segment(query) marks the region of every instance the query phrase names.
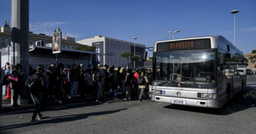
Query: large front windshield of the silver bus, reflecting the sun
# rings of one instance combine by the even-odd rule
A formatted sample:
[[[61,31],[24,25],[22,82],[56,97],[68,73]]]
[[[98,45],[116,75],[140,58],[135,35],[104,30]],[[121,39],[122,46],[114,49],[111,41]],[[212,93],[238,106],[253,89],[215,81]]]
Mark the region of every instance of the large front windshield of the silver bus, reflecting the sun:
[[[215,84],[215,50],[156,52],[154,60],[154,81]]]

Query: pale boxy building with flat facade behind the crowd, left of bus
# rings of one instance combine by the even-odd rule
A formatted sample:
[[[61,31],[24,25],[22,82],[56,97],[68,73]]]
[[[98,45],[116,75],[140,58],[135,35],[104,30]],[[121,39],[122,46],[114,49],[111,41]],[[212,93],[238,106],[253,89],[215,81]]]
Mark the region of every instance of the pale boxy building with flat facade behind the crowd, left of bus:
[[[142,55],[144,52],[145,44],[139,44],[135,42],[122,41],[119,39],[113,39],[110,37],[102,37],[100,35],[94,38],[82,39],[77,41],[80,44],[95,46],[97,53],[103,53],[104,56],[98,56],[98,62],[100,64],[115,65],[116,67],[126,67],[127,59],[121,58],[121,54],[124,52],[135,52],[136,55]],[[134,53],[133,53],[134,54]],[[136,61],[136,67],[143,67],[144,61]],[[133,68],[133,63],[129,66]]]

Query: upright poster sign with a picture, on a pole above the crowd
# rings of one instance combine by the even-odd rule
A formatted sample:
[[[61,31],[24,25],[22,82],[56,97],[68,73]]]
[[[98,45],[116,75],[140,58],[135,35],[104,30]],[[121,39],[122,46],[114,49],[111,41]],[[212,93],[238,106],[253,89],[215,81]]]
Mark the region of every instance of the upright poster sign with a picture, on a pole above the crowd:
[[[58,54],[62,52],[62,32],[56,31],[53,33],[53,54]]]

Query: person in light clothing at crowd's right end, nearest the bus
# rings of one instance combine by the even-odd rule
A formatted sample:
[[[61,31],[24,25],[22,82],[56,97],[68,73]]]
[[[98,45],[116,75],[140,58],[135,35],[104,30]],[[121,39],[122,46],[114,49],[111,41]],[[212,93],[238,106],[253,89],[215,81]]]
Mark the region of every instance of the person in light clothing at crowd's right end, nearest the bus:
[[[147,84],[148,84],[148,78],[146,75],[144,75],[144,71],[141,71],[140,76],[138,78],[138,84],[139,84],[139,101],[142,101],[142,97],[144,94],[144,91],[146,90]]]

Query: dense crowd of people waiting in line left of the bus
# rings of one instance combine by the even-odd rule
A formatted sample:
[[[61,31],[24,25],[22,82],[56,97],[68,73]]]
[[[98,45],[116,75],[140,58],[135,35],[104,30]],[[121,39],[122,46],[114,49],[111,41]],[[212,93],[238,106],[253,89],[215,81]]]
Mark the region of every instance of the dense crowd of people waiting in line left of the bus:
[[[43,67],[33,69],[30,66],[30,76],[38,74],[42,70],[41,76],[45,79],[40,97],[42,108],[46,107],[47,100],[62,104],[64,99],[86,98],[95,99],[98,103],[105,103],[106,94],[108,94],[108,99],[123,99],[125,96],[125,100],[130,100],[133,95],[134,98],[141,101],[152,79],[151,70],[139,71],[138,69],[121,69],[121,67],[116,69],[114,65],[112,67],[108,67],[108,65],[91,67],[89,65],[86,68],[84,69],[83,64],[64,67],[62,63],[58,63],[57,66],[52,63],[47,65],[46,69]],[[9,66],[3,71],[8,76],[7,79],[13,83],[12,107],[20,107],[17,103],[18,95],[20,95],[22,87],[29,86],[29,80],[22,83],[24,76],[22,65],[16,64],[11,74]]]

